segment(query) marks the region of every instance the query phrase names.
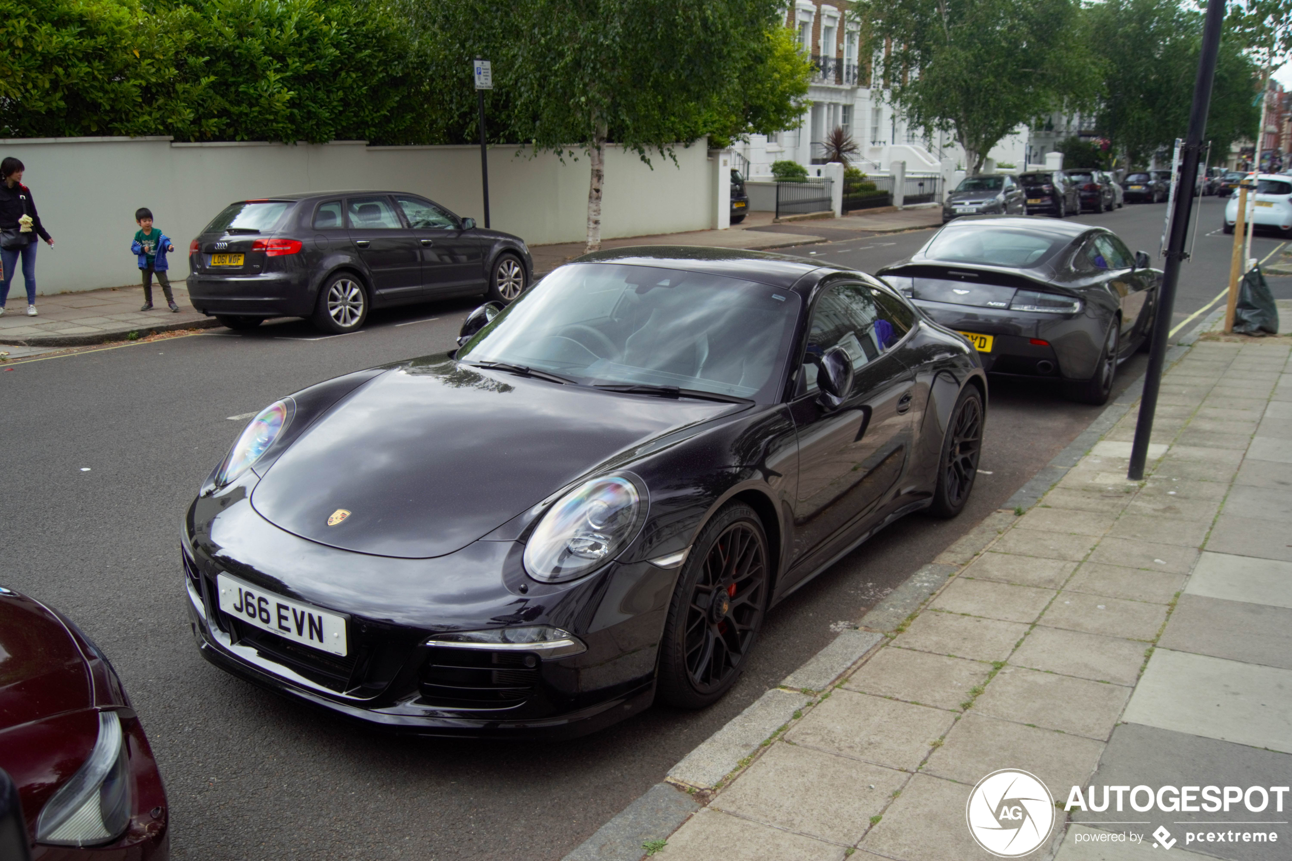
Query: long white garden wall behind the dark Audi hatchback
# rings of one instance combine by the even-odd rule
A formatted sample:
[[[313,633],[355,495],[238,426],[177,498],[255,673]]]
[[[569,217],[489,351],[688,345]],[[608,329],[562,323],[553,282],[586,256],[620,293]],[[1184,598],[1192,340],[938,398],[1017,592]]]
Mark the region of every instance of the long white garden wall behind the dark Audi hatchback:
[[[642,236],[716,227],[713,160],[705,142],[672,159],[607,147],[602,236]],[[134,284],[134,210],[147,207],[172,236],[172,278],[187,276],[191,240],[226,204],[275,194],[380,188],[411,191],[484,223],[477,146],[370,147],[332,143],[174,143],[171,138],[25,138],[0,141],[17,156],[54,248],[41,243],[43,294]],[[581,241],[588,159],[531,157],[490,150],[492,226],[531,245]],[[18,279],[21,281],[21,278]],[[21,285],[16,284],[21,292]]]

